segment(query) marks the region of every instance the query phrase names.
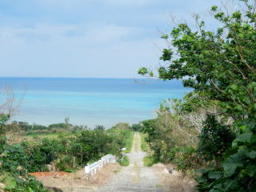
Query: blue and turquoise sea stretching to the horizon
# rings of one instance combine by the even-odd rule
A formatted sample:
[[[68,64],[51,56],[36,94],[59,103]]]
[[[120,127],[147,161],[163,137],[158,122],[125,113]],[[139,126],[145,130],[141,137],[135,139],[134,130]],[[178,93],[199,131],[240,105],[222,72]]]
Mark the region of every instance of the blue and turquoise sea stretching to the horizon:
[[[16,98],[24,94],[13,120],[49,125],[70,118],[89,127],[154,118],[160,102],[190,91],[178,81],[132,78],[0,78],[5,84]]]

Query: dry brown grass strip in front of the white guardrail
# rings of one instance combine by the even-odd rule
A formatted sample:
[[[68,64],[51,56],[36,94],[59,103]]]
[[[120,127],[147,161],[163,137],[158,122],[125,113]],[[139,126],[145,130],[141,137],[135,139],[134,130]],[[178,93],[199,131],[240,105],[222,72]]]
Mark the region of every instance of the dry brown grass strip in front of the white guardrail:
[[[38,180],[45,186],[57,187],[63,191],[72,191],[72,189],[97,189],[98,186],[106,184],[116,170],[120,169],[118,163],[106,164],[102,170],[93,176],[86,176],[84,170],[78,170],[76,173],[52,174],[49,176],[39,176]]]

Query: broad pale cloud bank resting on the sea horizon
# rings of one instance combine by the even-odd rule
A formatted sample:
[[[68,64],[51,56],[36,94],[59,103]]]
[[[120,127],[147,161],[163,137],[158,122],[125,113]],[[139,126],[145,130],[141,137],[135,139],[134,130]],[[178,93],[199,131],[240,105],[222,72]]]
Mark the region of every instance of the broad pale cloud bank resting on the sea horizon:
[[[0,76],[136,77],[139,66],[158,61],[152,39],[122,39],[141,32],[112,25],[2,28]]]

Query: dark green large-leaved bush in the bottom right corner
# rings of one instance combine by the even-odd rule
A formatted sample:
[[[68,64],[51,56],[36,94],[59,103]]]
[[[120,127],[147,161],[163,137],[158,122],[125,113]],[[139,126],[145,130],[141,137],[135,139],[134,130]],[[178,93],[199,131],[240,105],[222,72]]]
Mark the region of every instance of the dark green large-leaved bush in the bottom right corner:
[[[224,154],[221,166],[200,170],[199,192],[256,191],[256,123],[244,121],[238,126],[245,130]]]

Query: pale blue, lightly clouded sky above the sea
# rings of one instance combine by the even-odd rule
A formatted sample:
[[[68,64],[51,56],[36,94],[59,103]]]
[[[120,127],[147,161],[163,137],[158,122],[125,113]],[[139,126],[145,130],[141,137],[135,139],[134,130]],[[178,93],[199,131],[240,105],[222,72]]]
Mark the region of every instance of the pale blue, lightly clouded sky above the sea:
[[[159,65],[171,15],[193,25],[218,0],[1,0],[0,76],[137,78]]]

